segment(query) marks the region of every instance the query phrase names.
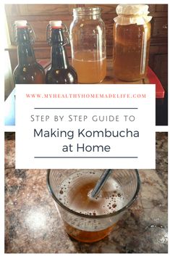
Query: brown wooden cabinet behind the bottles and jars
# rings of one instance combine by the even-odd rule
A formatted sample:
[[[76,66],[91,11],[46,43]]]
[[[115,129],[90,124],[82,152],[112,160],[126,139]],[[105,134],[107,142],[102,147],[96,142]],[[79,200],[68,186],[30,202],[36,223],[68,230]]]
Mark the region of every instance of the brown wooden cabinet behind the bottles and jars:
[[[8,47],[12,70],[17,65],[17,48],[12,38],[14,20],[27,20],[36,35],[35,57],[50,59],[50,47],[46,43],[46,25],[49,20],[62,20],[69,27],[72,22],[72,9],[79,6],[95,7],[96,4],[6,4],[5,10],[11,45]],[[116,17],[116,4],[98,4],[101,17],[106,24],[107,57],[112,57],[113,25]],[[150,42],[150,67],[158,75],[164,88],[168,88],[168,5],[149,4],[152,32]],[[70,57],[70,49],[67,48]]]

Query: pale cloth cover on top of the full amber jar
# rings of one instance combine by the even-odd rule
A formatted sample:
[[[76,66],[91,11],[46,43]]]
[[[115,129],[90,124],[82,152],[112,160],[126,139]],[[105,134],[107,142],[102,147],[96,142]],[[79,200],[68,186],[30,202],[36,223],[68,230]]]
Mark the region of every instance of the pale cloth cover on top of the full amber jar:
[[[119,4],[116,7],[118,17],[114,21],[119,25],[144,25],[152,19],[148,16],[148,8],[147,4]]]

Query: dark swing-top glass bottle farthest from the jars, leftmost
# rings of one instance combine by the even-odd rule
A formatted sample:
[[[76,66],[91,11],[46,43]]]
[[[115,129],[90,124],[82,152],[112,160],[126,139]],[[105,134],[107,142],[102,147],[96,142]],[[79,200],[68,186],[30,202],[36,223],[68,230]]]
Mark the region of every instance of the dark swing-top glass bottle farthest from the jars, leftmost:
[[[15,83],[45,83],[43,67],[36,62],[33,50],[33,38],[26,20],[14,22],[17,42],[18,65],[14,69]]]

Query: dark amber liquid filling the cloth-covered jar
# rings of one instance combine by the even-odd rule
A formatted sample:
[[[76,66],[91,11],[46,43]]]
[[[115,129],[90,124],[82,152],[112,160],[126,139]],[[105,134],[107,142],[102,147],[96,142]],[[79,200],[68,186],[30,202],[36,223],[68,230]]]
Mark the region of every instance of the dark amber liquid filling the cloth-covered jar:
[[[114,24],[114,76],[129,82],[145,78],[149,46],[149,22],[145,25]]]

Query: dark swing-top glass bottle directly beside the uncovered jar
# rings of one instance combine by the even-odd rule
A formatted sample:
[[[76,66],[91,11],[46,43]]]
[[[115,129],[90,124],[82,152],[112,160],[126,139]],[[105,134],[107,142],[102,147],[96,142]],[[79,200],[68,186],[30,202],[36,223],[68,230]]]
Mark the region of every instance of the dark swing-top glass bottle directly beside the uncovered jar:
[[[50,29],[49,37],[48,29]],[[46,73],[46,83],[77,83],[77,73],[69,65],[65,49],[68,39],[64,37],[61,21],[53,20],[49,22],[47,40],[51,46],[51,67]]]

